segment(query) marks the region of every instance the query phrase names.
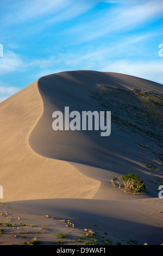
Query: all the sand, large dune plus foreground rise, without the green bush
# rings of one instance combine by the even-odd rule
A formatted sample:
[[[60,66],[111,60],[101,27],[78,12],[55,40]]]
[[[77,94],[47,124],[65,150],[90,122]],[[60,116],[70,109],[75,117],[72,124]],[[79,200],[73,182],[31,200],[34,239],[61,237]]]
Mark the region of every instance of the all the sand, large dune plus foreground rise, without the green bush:
[[[78,239],[84,236],[92,243],[98,238],[101,245],[160,245],[162,88],[124,74],[66,71],[41,77],[1,102],[1,244],[26,244],[40,230],[35,235],[40,244],[58,244],[55,234],[70,232],[62,239],[66,244],[81,245],[85,240]],[[101,130],[54,131],[52,114],[64,113],[66,106],[81,115],[111,111],[110,136],[102,137]],[[145,192],[112,186],[114,176],[131,172],[145,182]],[[84,228],[98,237],[87,237]]]

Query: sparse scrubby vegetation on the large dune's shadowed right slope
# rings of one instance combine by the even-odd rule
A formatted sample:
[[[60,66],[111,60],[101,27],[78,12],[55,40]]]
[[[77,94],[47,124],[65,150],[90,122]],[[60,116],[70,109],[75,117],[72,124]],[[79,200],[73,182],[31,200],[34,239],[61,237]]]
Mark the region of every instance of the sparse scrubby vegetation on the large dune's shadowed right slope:
[[[143,163],[151,172],[163,172],[163,94],[131,87],[121,89],[109,84],[97,84],[100,93],[91,93],[99,111],[111,109],[111,121],[124,133],[139,135],[149,144],[155,143],[153,150],[155,165]],[[149,148],[148,144],[140,146]]]

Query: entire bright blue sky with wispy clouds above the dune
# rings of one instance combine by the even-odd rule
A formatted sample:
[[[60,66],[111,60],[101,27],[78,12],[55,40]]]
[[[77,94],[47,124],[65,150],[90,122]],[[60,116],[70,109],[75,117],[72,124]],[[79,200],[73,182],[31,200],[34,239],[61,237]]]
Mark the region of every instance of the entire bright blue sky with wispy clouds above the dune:
[[[162,0],[0,0],[0,101],[67,70],[163,83],[162,13]]]

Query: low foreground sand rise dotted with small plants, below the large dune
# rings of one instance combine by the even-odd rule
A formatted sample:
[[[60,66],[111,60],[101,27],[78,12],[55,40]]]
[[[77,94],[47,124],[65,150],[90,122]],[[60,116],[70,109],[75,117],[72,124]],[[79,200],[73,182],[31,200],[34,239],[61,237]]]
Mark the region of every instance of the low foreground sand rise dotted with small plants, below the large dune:
[[[23,200],[0,204],[0,214],[0,245],[27,245],[35,238],[38,245],[162,244],[158,198]]]

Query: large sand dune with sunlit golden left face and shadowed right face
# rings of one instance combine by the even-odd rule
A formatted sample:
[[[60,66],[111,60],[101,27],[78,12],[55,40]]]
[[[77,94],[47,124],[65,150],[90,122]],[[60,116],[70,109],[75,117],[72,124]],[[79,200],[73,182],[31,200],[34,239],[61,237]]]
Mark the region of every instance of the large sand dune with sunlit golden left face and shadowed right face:
[[[151,139],[142,126],[135,127],[134,120],[143,124],[137,113],[145,117],[147,113],[141,112],[144,107],[131,94],[132,87],[162,92],[161,84],[133,76],[68,71],[42,77],[1,102],[2,201],[128,199],[130,196],[117,191],[110,180],[129,172],[139,174],[147,185],[147,193],[140,197],[157,197],[156,179],[161,179],[161,173],[149,173],[142,162],[153,159],[153,151],[160,150],[158,138]],[[111,111],[116,117],[111,121],[111,135],[102,137],[101,130],[54,131],[52,114],[57,110],[64,113],[65,106],[79,113]],[[121,129],[122,123],[127,124],[121,119],[129,118],[129,106],[129,120],[136,132],[131,124],[131,129],[127,125]]]

